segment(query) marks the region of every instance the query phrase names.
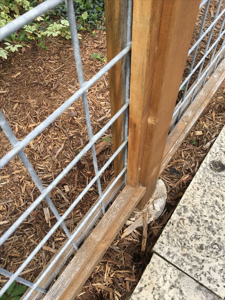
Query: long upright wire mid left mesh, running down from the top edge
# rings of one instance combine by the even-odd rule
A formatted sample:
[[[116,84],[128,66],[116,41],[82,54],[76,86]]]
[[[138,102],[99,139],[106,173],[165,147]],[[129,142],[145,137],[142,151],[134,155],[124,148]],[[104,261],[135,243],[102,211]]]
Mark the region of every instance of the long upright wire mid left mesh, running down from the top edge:
[[[66,3],[67,16],[68,16],[69,27],[70,27],[70,32],[71,32],[71,39],[72,39],[73,53],[74,53],[74,58],[75,58],[75,63],[76,63],[78,81],[79,81],[80,87],[82,87],[85,84],[85,80],[84,80],[84,75],[83,75],[82,60],[81,60],[81,56],[80,56],[80,47],[79,47],[79,40],[78,40],[78,36],[77,36],[73,1],[65,0],[65,3]],[[93,139],[93,132],[92,132],[92,127],[91,127],[90,112],[89,112],[86,91],[82,94],[82,102],[83,102],[85,120],[86,120],[86,124],[87,124],[87,133],[88,133],[89,141],[91,141]],[[94,172],[97,175],[99,171],[98,171],[98,162],[97,162],[94,145],[91,146],[91,154],[92,154],[92,160],[93,160],[93,165],[94,165]],[[102,190],[101,190],[101,182],[100,182],[99,177],[97,179],[97,186],[98,186],[98,194],[99,194],[99,197],[101,198]],[[101,209],[102,209],[102,213],[105,214],[105,206],[104,206],[103,200],[101,202]]]

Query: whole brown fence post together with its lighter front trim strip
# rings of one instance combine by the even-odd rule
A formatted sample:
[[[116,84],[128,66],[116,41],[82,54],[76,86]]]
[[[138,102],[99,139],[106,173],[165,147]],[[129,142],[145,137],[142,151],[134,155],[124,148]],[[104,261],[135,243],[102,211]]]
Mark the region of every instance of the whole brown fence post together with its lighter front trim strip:
[[[200,0],[134,1],[127,184],[152,196]]]

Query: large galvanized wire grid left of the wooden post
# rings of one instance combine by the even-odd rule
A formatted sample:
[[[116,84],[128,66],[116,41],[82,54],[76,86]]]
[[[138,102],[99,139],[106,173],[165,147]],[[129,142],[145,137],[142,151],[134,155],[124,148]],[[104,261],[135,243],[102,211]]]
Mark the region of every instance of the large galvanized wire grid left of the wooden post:
[[[30,23],[35,18],[39,17],[43,13],[46,13],[48,10],[53,9],[55,6],[63,2],[63,0],[46,0],[45,2],[41,3],[37,7],[33,8],[32,10],[24,13],[24,15],[18,17],[16,20],[6,24],[2,27],[1,30],[1,41],[5,39],[10,34],[14,33],[15,31],[22,28],[24,25]],[[126,40],[126,47],[117,54],[107,65],[105,65],[98,73],[96,73],[90,80],[85,81],[83,75],[83,68],[82,68],[82,61],[80,56],[80,49],[79,49],[79,40],[77,36],[77,29],[76,29],[76,21],[74,15],[74,8],[73,8],[73,1],[72,0],[65,0],[66,8],[67,8],[67,16],[70,26],[71,32],[71,39],[74,51],[74,58],[76,62],[76,70],[78,74],[79,80],[79,90],[76,91],[69,99],[67,99],[60,107],[58,107],[49,117],[47,117],[41,124],[39,124],[33,131],[31,131],[23,140],[18,141],[16,136],[14,135],[12,129],[10,128],[9,124],[7,123],[3,113],[1,112],[0,120],[1,120],[1,128],[4,131],[5,135],[9,139],[13,148],[0,160],[1,168],[3,168],[13,157],[18,155],[20,160],[23,162],[24,166],[26,167],[27,171],[29,172],[31,178],[35,182],[36,186],[40,191],[40,195],[36,198],[32,204],[24,211],[24,213],[13,223],[13,225],[2,235],[0,239],[0,245],[2,245],[9,237],[13,234],[13,232],[20,226],[20,224],[30,215],[30,213],[39,205],[40,202],[45,200],[52,210],[53,214],[55,215],[57,222],[56,224],[50,229],[50,231],[46,234],[46,236],[42,239],[42,241],[36,246],[36,248],[29,254],[29,256],[25,259],[25,261],[20,265],[17,271],[13,274],[5,269],[0,269],[0,273],[6,277],[9,277],[8,282],[2,287],[0,293],[1,296],[6,292],[7,288],[16,280],[19,283],[23,283],[30,287],[30,291],[26,294],[24,299],[29,299],[32,292],[36,289],[41,291],[42,293],[46,293],[47,291],[41,287],[39,287],[39,283],[42,279],[46,276],[46,274],[50,271],[59,257],[64,253],[65,249],[72,243],[73,247],[78,250],[79,244],[74,242],[75,237],[79,233],[79,231],[83,228],[83,226],[88,222],[91,215],[98,209],[99,205],[101,204],[101,211],[105,214],[105,205],[104,205],[104,198],[107,194],[112,190],[113,186],[116,182],[121,178],[123,174],[125,174],[125,183],[126,183],[126,170],[127,170],[127,142],[128,142],[128,106],[129,106],[129,92],[130,92],[130,61],[131,61],[131,24],[132,24],[132,0],[128,0],[127,2],[127,40]],[[126,55],[126,83],[125,83],[125,104],[122,108],[108,121],[107,124],[101,128],[101,130],[93,135],[91,120],[90,120],[90,112],[88,107],[87,101],[87,89],[91,87],[98,79],[100,79],[106,72],[112,68],[113,65],[116,64],[122,57]],[[74,157],[74,159],[65,167],[65,169],[50,183],[48,187],[43,187],[39,177],[37,176],[34,168],[32,167],[28,157],[24,153],[24,147],[26,147],[35,137],[37,137],[45,128],[47,128],[57,117],[59,117],[69,106],[71,106],[79,97],[82,97],[83,108],[85,113],[85,120],[87,125],[89,143],[79,152],[79,154]],[[105,165],[99,170],[98,169],[98,162],[95,153],[95,142],[101,137],[103,133],[115,122],[115,120],[122,114],[125,114],[125,134],[124,134],[124,141],[119,146],[119,148],[112,154],[109,160],[105,163]],[[121,128],[122,131],[122,128]],[[113,159],[117,156],[120,151],[125,148],[125,161],[124,161],[124,168],[121,170],[120,174],[115,178],[115,180],[111,183],[108,189],[102,193],[100,176],[103,174],[105,169],[110,165]],[[50,191],[53,190],[54,187],[62,180],[62,178],[72,169],[74,165],[83,157],[84,154],[87,153],[88,150],[91,150],[93,165],[94,165],[94,178],[87,184],[87,187],[79,194],[76,200],[71,204],[71,206],[65,211],[65,213],[60,216],[56,207],[54,206],[51,198],[49,197]],[[97,182],[98,187],[98,194],[99,200],[91,207],[89,212],[85,215],[83,220],[79,223],[76,229],[71,234],[66,225],[64,224],[64,220],[68,217],[69,213],[75,208],[78,202],[82,199],[82,197],[87,193],[90,187]],[[23,278],[19,277],[20,273],[24,270],[24,268],[29,264],[29,262],[33,259],[33,257],[38,253],[38,251],[44,246],[46,241],[51,237],[51,235],[57,230],[57,228],[61,226],[64,230],[65,234],[67,235],[68,239],[64,246],[57,252],[53,260],[47,265],[47,267],[42,272],[39,279],[36,280],[35,283],[31,283]]]

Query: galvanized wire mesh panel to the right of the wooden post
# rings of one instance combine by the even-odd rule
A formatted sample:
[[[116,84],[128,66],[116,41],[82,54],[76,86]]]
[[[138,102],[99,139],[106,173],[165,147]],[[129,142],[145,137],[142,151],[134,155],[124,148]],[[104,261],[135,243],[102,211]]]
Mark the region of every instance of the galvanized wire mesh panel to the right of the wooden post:
[[[178,103],[175,106],[170,130],[179,122],[187,106],[195,100],[209,76],[218,67],[221,56],[224,56],[224,1],[202,1],[197,20],[201,20],[201,23],[196,23],[198,35],[193,37],[194,44],[188,52],[188,74],[186,74],[187,68],[185,68],[184,75],[186,77],[179,88]],[[212,66],[214,67],[212,68]]]

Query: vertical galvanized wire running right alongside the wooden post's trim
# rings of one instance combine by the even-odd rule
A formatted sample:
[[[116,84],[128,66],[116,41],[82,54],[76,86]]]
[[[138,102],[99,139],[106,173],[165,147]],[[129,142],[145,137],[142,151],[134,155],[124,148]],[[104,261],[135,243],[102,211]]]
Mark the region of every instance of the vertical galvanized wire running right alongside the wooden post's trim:
[[[128,0],[127,2],[127,41],[126,46],[131,43],[132,36],[132,13],[133,13],[133,0]],[[131,51],[127,53],[126,56],[126,84],[125,84],[125,103],[130,99],[130,78],[131,78]],[[128,125],[129,125],[129,107],[125,110],[125,132],[124,138],[128,137]],[[128,144],[124,149],[124,166],[127,166],[127,152]],[[124,174],[124,183],[127,184],[127,169]]]

